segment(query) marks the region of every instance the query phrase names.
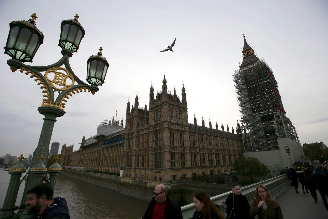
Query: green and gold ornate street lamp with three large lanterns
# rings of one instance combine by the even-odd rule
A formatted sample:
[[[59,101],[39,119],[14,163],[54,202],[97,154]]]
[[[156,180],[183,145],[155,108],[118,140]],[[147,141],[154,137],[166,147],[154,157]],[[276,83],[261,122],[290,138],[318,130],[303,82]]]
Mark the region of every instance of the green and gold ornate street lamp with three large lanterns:
[[[32,180],[35,175],[35,168],[40,169],[37,166],[40,165],[40,162],[47,164],[53,126],[56,118],[65,114],[64,110],[67,100],[72,97],[72,95],[82,91],[95,94],[95,92],[99,90],[98,85],[104,83],[109,68],[106,58],[102,57],[103,49],[100,47],[100,52],[97,55],[92,55],[87,61],[88,71],[86,80],[91,85],[83,82],[74,74],[69,63],[69,58],[72,57],[72,53],[77,52],[85,34],[83,27],[78,22],[78,14],[74,16],[74,19],[64,20],[61,23],[58,45],[62,48],[61,54],[63,57],[59,61],[47,66],[30,66],[23,64],[23,62],[32,62],[33,56],[43,43],[43,34],[35,27],[35,19],[37,16],[34,13],[31,17],[32,19],[29,21],[13,21],[10,23],[10,32],[7,44],[4,47],[5,54],[11,57],[11,59],[7,61],[11,71],[15,72],[17,69],[20,69],[21,73],[24,72],[25,75],[29,75],[40,85],[43,93],[42,103],[41,106],[38,107],[38,111],[44,115],[44,122],[37,148],[33,152],[30,170],[23,178],[26,180],[26,184],[21,205],[24,205],[26,201],[27,190],[37,182],[40,182],[39,179],[38,181]],[[55,98],[54,94],[57,92],[59,95]],[[44,156],[41,156],[41,154]],[[40,161],[39,157],[42,157]],[[56,167],[56,170],[59,167]],[[55,177],[53,177],[52,181],[54,181],[52,182],[54,187]],[[19,184],[16,186],[19,188]],[[11,190],[7,191],[9,196],[12,193]],[[20,218],[29,217],[26,210],[20,210],[18,214],[21,215]],[[0,218],[3,218],[1,212]]]

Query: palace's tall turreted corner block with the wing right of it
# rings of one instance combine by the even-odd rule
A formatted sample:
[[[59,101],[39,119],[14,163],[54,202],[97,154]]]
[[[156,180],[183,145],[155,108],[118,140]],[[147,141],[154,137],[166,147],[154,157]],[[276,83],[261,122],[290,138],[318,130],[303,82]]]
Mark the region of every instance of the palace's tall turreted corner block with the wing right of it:
[[[233,171],[235,160],[242,157],[241,136],[233,128],[233,133],[229,127],[219,130],[217,123],[212,128],[211,120],[209,128],[204,120],[197,125],[196,117],[194,124],[188,123],[184,85],[180,99],[166,83],[164,76],[156,96],[152,84],[149,109],[139,106],[138,95],[134,106],[130,99],[127,103],[122,180],[172,182]]]

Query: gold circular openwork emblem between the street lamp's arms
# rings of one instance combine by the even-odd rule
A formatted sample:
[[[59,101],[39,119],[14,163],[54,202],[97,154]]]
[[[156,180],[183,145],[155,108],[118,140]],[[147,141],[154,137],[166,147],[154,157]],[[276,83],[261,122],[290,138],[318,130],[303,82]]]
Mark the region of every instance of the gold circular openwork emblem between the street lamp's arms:
[[[50,68],[44,74],[50,86],[58,91],[64,91],[74,85],[73,75],[65,68]]]

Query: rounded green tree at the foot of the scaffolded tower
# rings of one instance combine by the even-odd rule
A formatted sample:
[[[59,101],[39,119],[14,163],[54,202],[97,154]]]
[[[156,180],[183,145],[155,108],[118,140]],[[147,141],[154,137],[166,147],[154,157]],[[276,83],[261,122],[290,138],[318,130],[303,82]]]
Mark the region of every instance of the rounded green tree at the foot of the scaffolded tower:
[[[242,157],[236,160],[235,170],[243,176],[248,176],[253,182],[253,177],[267,175],[270,171],[257,158]]]

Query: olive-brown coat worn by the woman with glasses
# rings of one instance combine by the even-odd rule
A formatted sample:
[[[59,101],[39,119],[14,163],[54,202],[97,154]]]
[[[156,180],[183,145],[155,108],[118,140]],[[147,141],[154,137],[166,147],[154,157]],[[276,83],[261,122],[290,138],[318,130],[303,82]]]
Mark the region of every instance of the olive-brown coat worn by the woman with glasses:
[[[255,216],[257,214],[258,219],[264,219],[265,211],[262,206],[261,206],[261,208],[257,207],[258,203],[259,203],[258,200],[254,199],[251,209],[249,210],[249,214],[251,216]],[[266,211],[268,211],[266,219],[283,219],[284,218],[282,216],[281,208],[276,201],[273,201],[272,203],[270,203],[267,206]]]

